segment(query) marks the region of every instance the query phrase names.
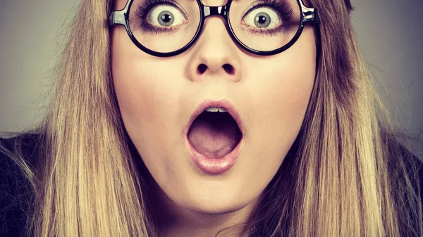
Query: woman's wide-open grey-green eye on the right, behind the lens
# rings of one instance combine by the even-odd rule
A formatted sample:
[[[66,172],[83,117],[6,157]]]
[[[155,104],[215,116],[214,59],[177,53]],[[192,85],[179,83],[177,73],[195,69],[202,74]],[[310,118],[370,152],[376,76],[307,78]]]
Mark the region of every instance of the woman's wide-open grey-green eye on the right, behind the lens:
[[[243,23],[257,28],[274,29],[281,25],[279,14],[269,7],[255,8],[248,12]]]

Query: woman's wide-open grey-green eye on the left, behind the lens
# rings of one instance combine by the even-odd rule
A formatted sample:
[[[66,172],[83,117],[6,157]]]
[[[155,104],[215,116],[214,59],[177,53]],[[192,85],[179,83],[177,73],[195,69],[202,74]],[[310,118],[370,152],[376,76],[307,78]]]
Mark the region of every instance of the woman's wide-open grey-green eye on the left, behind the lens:
[[[186,23],[185,16],[178,8],[170,5],[159,5],[150,11],[149,23],[157,27],[169,27]]]

